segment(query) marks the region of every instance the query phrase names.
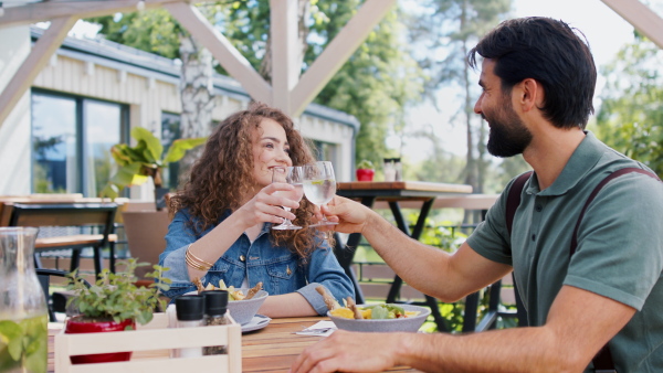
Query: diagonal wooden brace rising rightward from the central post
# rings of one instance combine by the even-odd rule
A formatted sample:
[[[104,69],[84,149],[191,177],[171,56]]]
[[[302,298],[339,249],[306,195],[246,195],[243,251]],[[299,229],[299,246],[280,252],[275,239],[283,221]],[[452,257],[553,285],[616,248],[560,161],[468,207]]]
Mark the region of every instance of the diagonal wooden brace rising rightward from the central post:
[[[366,40],[397,0],[367,0],[292,90],[291,116],[301,115],[334,74]]]

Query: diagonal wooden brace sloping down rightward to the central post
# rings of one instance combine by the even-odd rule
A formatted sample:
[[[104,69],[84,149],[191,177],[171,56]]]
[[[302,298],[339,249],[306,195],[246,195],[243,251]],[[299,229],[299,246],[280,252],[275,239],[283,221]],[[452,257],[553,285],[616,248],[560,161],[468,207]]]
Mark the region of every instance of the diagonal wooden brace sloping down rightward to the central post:
[[[249,61],[196,9],[185,2],[164,4],[190,33],[204,45],[221,66],[259,102],[272,105],[272,87]]]

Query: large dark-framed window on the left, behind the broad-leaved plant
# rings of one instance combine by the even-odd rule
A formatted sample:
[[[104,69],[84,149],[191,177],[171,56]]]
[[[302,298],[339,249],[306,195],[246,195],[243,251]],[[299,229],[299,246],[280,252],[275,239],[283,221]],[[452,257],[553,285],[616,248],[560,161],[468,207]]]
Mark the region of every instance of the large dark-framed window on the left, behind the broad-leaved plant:
[[[32,93],[32,191],[96,196],[114,170],[110,147],[127,141],[128,107]]]

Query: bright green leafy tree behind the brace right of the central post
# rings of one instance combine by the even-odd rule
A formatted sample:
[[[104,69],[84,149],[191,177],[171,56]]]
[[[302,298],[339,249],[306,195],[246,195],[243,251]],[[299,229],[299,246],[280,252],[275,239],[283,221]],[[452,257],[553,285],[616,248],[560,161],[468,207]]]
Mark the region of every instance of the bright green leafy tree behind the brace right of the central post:
[[[312,33],[326,39],[326,45],[354,15],[359,3],[356,0],[320,1],[318,7],[329,21],[312,26]],[[359,119],[356,159],[369,159],[377,164],[388,154],[387,135],[406,126],[404,107],[420,99],[424,84],[421,70],[402,38],[404,25],[399,14],[401,11],[396,9],[382,19],[315,99]],[[312,62],[311,56],[307,61]]]

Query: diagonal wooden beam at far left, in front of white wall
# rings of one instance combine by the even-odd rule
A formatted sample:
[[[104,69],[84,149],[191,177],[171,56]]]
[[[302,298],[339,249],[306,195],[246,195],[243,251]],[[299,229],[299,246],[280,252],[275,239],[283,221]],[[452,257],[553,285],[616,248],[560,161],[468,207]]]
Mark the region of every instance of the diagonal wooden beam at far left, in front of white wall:
[[[63,17],[51,20],[49,30],[34,43],[32,51],[14,73],[9,84],[0,93],[0,127],[17,105],[21,96],[30,88],[36,75],[46,65],[51,55],[62,44],[66,33],[74,26],[76,17]]]

